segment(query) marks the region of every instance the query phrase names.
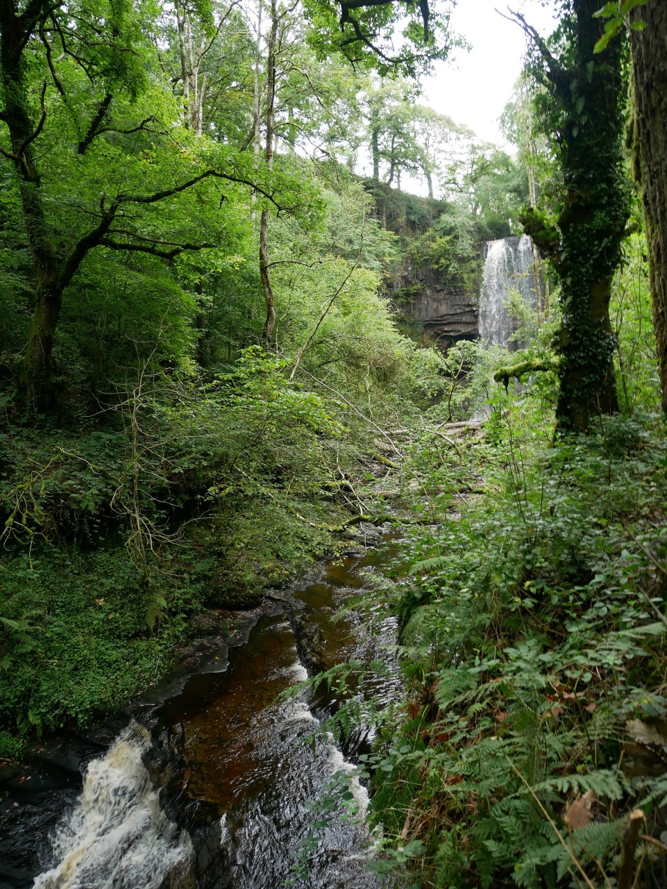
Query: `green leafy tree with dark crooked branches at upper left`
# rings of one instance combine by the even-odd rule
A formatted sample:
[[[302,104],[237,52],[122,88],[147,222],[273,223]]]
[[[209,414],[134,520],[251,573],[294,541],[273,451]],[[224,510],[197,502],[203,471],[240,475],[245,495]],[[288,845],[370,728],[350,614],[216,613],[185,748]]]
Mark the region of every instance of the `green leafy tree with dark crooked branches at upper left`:
[[[21,10],[8,0],[0,36],[0,153],[20,193],[35,287],[18,382],[25,403],[46,409],[57,400],[52,354],[64,294],[89,253],[172,263],[217,248],[219,227],[202,224],[188,193],[215,206],[216,180],[253,183],[240,161],[179,143],[174,109],[150,90],[149,44],[131,4],[30,0]]]

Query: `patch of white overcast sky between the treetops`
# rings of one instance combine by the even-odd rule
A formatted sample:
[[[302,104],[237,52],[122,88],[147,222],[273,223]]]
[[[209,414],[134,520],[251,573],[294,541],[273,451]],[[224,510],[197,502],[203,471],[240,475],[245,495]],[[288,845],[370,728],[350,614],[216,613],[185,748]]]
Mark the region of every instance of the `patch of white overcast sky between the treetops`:
[[[457,124],[466,124],[481,140],[504,145],[498,117],[512,96],[526,51],[526,37],[518,25],[496,9],[521,12],[529,24],[547,36],[555,27],[552,4],[541,0],[458,0],[452,28],[472,45],[458,50],[454,60],[439,64],[425,84],[425,100]]]

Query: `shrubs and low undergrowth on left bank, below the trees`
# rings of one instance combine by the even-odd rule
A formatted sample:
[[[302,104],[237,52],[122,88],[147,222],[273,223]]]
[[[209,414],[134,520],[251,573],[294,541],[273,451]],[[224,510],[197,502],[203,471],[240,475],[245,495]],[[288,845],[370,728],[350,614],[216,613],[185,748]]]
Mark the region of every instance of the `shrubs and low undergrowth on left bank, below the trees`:
[[[80,426],[5,412],[0,750],[118,709],[194,613],[257,605],[335,548],[364,445],[284,365],[250,348],[208,381],[145,367]]]

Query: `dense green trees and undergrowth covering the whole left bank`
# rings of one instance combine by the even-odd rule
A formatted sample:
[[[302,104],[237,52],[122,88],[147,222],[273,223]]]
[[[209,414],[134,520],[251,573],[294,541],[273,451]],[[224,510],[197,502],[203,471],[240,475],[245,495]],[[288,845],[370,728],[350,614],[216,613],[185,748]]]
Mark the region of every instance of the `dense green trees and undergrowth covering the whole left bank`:
[[[436,19],[397,71],[446,54]],[[197,610],[257,603],[335,550],[385,421],[424,403],[441,359],[382,297],[401,242],[351,170],[370,75],[330,56],[323,24],[102,2],[8,4],[0,28],[16,749],[158,681]]]

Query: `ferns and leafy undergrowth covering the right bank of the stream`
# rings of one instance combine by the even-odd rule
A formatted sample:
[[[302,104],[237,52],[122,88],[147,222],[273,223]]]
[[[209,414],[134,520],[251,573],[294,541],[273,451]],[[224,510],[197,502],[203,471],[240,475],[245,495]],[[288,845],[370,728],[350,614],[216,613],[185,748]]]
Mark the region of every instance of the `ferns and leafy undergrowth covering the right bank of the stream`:
[[[625,889],[665,885],[663,425],[608,418],[552,444],[529,399],[496,399],[486,433],[413,455],[407,496],[433,524],[382,592],[409,696],[367,757],[376,867],[401,885],[623,886],[638,807]],[[483,493],[461,495],[466,473]]]

